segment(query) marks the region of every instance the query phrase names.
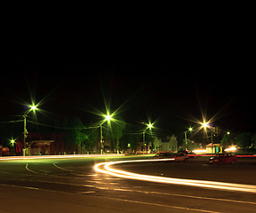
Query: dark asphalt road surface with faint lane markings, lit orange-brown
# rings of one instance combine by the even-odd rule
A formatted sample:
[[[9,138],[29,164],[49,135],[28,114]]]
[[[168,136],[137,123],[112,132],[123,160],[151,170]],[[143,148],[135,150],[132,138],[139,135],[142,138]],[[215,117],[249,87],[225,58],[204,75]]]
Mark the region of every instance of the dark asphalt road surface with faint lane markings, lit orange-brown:
[[[256,193],[160,184],[96,172],[98,162],[146,157],[0,161],[0,212],[256,212]],[[256,159],[208,165],[130,162],[113,168],[159,177],[256,185]]]

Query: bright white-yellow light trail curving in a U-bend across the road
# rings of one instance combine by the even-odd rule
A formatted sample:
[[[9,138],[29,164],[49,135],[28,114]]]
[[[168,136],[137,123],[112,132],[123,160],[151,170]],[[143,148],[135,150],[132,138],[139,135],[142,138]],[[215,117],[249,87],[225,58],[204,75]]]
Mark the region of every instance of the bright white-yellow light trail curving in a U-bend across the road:
[[[204,187],[204,188],[212,188],[217,190],[228,190],[228,191],[236,191],[236,192],[243,192],[243,193],[256,193],[256,185],[242,185],[242,184],[233,184],[233,183],[207,181],[207,180],[149,176],[149,175],[132,173],[124,170],[116,170],[110,167],[115,164],[127,163],[127,162],[160,162],[160,161],[161,162],[174,161],[174,159],[100,162],[94,166],[94,170],[101,173],[108,174],[108,175],[116,176],[116,177],[150,181],[150,182],[156,182],[156,183],[162,183],[162,184],[189,185],[189,186],[197,186],[197,187]]]

